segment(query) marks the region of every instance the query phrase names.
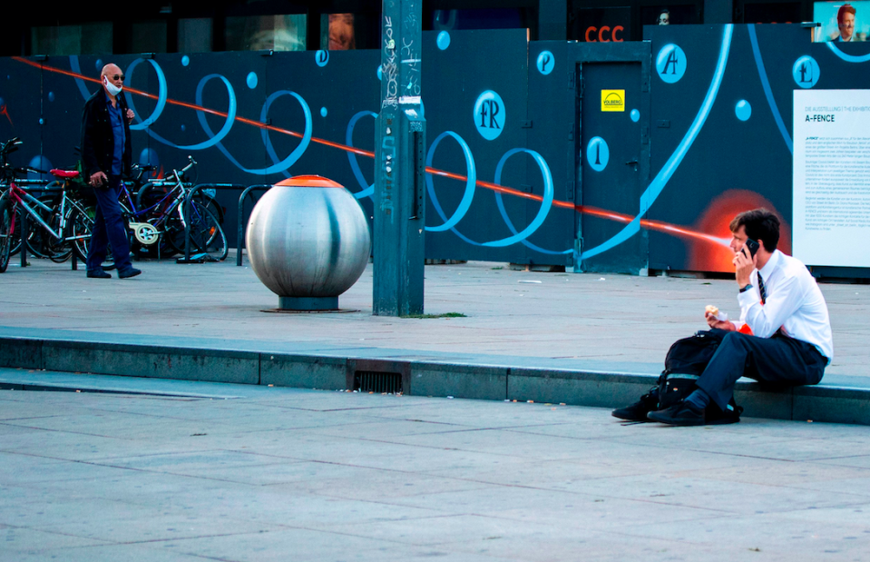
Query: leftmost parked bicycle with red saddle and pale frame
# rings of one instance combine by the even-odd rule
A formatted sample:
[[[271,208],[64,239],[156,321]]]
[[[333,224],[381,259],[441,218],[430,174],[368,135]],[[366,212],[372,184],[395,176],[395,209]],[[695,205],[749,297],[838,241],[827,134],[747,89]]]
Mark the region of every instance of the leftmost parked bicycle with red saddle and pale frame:
[[[16,177],[18,174],[44,172],[30,167],[15,168],[6,162],[6,156],[15,152],[21,144],[20,139],[14,138],[0,145],[0,181],[7,186],[0,195],[0,273],[6,271],[8,266],[15,244],[16,216],[21,212],[26,212],[34,221],[34,229],[36,225],[42,227],[41,232],[47,235],[43,242],[48,257],[53,261],[66,261],[73,251],[76,251],[79,258],[85,260],[87,253],[79,251],[76,242],[90,239],[93,222],[87,219],[83,201],[71,197],[65,187],[61,189],[59,204],[56,207],[24,191],[19,183],[27,181],[18,180]],[[78,174],[65,170],[52,170],[52,173],[64,178]],[[30,247],[29,239],[29,232],[22,232],[20,243],[27,243]]]

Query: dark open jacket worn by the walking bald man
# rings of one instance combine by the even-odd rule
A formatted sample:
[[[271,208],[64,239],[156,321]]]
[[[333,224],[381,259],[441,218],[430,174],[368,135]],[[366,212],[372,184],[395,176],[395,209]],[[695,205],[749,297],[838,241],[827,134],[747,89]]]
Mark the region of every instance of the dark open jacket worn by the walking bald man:
[[[122,123],[127,142],[124,143],[122,158],[122,173],[130,173],[132,163],[132,143],[130,142],[130,125],[127,123],[127,100],[123,94],[118,94],[118,107],[121,108]],[[91,179],[91,175],[104,172],[106,175],[112,172],[112,154],[114,153],[114,136],[112,135],[112,122],[109,120],[109,108],[107,107],[109,96],[101,87],[96,94],[88,98],[84,103],[82,113],[82,163],[84,168],[84,181]]]

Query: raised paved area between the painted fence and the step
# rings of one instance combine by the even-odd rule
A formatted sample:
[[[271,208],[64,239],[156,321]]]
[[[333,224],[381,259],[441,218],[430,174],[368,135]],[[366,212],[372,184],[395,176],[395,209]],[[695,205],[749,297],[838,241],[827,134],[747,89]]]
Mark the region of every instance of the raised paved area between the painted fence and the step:
[[[44,330],[277,342],[288,350],[413,350],[425,356],[658,373],[673,341],[704,330],[704,306],[739,314],[734,281],[598,273],[511,271],[506,264],[427,266],[425,312],[465,318],[372,315],[372,269],[339,298],[339,314],[274,314],[272,294],[234,260],[199,265],[143,261],[132,280],[86,279],[70,264],[33,260],[0,275],[0,335]],[[827,380],[870,383],[870,286],[823,283],[834,329]],[[125,341],[130,341],[125,340]]]

